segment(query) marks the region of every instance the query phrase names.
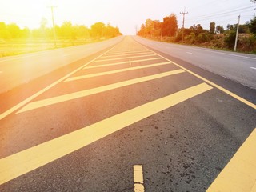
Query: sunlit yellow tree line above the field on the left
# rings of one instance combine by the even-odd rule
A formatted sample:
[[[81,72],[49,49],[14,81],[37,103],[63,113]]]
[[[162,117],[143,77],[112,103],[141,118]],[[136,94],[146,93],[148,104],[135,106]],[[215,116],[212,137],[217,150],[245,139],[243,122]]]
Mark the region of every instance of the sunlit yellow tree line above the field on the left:
[[[21,29],[17,24],[0,22],[0,39],[15,38],[54,38],[54,30],[46,26],[46,19],[42,18],[38,29],[30,30],[28,27]],[[73,25],[71,22],[63,22],[61,26],[55,25],[57,38],[113,38],[121,35],[118,27],[108,23],[96,22],[88,28],[84,25]]]

